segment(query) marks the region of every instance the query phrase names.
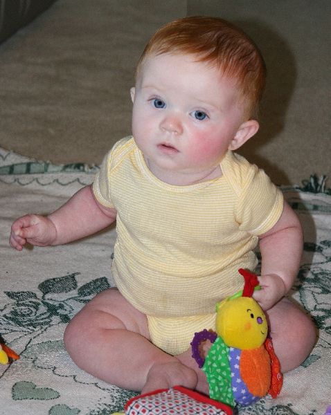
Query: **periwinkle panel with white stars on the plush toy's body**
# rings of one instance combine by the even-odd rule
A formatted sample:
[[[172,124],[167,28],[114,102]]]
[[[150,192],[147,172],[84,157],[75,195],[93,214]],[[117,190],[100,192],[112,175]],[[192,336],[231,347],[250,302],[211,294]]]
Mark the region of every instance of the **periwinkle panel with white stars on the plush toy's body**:
[[[241,352],[242,351],[240,349],[235,349],[234,347],[230,347],[229,349],[232,393],[233,398],[235,398],[235,402],[240,403],[240,405],[251,405],[260,398],[258,396],[252,395],[251,392],[249,392],[245,382],[240,376]]]

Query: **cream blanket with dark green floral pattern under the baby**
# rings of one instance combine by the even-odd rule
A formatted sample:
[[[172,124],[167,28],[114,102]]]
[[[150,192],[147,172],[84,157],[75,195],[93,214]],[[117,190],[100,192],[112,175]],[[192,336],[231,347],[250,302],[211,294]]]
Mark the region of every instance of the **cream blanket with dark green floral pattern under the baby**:
[[[96,169],[37,163],[0,149],[0,340],[21,356],[0,365],[0,414],[106,415],[134,396],[78,369],[62,342],[71,317],[114,286],[114,227],[66,246],[16,252],[8,245],[14,219],[52,212],[90,184]],[[239,414],[323,415],[331,405],[331,192],[324,179],[283,189],[305,232],[301,270],[289,295],[312,315],[319,341],[301,367],[285,374],[278,398],[237,407]]]

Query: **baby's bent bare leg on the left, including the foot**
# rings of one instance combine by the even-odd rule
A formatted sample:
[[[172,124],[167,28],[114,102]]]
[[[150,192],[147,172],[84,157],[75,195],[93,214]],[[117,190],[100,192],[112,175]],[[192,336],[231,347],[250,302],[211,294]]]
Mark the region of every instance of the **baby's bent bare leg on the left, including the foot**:
[[[197,385],[194,369],[150,342],[147,318],[116,288],[96,295],[73,317],[64,344],[78,367],[118,387],[145,393]]]

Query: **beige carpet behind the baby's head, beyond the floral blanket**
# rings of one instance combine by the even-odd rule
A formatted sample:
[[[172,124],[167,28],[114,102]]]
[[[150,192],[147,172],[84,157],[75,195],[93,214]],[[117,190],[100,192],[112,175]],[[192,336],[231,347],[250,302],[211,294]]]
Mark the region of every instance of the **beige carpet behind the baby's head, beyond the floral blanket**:
[[[145,42],[186,14],[234,21],[265,55],[261,129],[240,152],[276,184],[330,174],[330,0],[58,0],[0,45],[1,147],[99,164],[130,133]]]

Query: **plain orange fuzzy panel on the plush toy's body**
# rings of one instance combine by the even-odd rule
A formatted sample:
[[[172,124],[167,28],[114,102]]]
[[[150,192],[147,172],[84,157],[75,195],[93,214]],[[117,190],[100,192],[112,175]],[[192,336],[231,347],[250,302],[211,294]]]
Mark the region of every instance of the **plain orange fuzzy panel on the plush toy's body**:
[[[257,349],[242,350],[240,376],[251,394],[260,398],[267,395],[271,382],[271,363],[263,345]]]

